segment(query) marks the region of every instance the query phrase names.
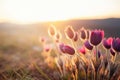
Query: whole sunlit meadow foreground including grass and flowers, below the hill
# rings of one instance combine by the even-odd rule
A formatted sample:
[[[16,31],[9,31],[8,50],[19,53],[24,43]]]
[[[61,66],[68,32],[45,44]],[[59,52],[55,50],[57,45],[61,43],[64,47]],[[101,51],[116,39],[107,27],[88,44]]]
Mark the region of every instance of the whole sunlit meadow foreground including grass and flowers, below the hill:
[[[105,38],[103,30],[74,30],[71,26],[64,29],[52,25],[49,37],[44,31],[40,38],[30,34],[27,42],[19,40],[22,44],[2,41],[3,36],[0,80],[120,79],[120,38]]]

